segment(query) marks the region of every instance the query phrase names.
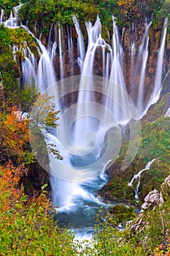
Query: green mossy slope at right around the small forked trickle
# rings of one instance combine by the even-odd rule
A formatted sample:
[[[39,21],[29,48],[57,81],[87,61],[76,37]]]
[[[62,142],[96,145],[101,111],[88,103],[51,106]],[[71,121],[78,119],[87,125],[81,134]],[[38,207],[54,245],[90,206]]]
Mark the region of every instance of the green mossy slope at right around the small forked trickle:
[[[169,117],[158,118],[156,121],[142,121],[142,138],[134,161],[128,169],[120,170],[128,148],[128,142],[124,141],[120,157],[113,165],[114,172],[110,174],[112,178],[104,187],[104,194],[110,200],[129,200],[131,203],[136,203],[134,189],[138,181],[134,181],[133,187],[128,187],[128,182],[152,159],[156,160],[152,163],[150,170],[144,170],[142,173],[139,198],[144,200],[152,189],[160,189],[163,179],[169,175],[169,145]]]

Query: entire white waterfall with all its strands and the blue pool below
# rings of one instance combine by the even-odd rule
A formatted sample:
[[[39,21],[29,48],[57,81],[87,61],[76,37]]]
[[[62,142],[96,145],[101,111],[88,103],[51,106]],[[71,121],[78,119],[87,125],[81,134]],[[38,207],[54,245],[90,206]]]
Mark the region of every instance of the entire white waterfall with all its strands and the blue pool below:
[[[12,28],[18,26],[17,12],[18,8],[15,8],[9,20],[4,22],[3,11],[1,11],[1,23]],[[136,121],[142,118],[150,105],[160,97],[167,20],[164,23],[161,46],[158,50],[155,85],[147,102],[144,101],[144,81],[151,23],[145,24],[145,31],[138,49],[135,40],[131,42],[131,81],[136,80],[136,72],[139,74],[136,105],[128,96],[126,89],[123,45],[120,42],[115,17],[112,18],[112,45],[102,37],[99,17],[94,24],[90,21],[85,23],[88,35],[87,47],[85,47],[80,24],[75,17],[73,22],[77,31],[77,45],[72,41],[72,28],[67,25],[64,31],[63,26],[56,23],[51,26],[47,47],[42,44],[41,36],[39,39],[36,38],[38,59],[26,42],[24,47],[14,46],[13,53],[14,58],[18,50],[25,56],[21,63],[20,83],[31,84],[31,81],[34,81],[39,85],[42,94],[47,92],[55,95],[56,108],[61,108],[58,129],[45,135],[46,141],[56,145],[64,158],[61,161],[55,159],[52,153],[49,155],[53,205],[59,207],[58,219],[66,224],[72,223],[74,227],[90,227],[93,225],[93,215],[96,214],[99,206],[108,207],[107,203],[96,197],[95,192],[107,182],[105,170],[110,162],[118,157],[121,146],[120,124],[127,124],[131,118]],[[32,34],[28,27],[20,26]],[[34,37],[34,34],[32,36]],[[69,78],[64,79],[66,45],[70,69],[67,74]],[[75,49],[77,50],[76,61],[74,60]],[[59,67],[56,70],[55,56],[57,55]],[[97,55],[101,58],[101,67],[96,64]],[[80,74],[74,77],[72,75],[76,64]],[[94,75],[96,67],[100,69],[100,76]],[[59,73],[58,81],[56,72]],[[68,95],[69,103],[64,98]],[[131,136],[135,136],[133,132]],[[151,165],[152,162],[149,164]],[[140,178],[141,173],[148,170],[150,165],[134,178]],[[131,184],[133,181],[134,179]],[[136,197],[138,189],[139,186],[136,188]]]

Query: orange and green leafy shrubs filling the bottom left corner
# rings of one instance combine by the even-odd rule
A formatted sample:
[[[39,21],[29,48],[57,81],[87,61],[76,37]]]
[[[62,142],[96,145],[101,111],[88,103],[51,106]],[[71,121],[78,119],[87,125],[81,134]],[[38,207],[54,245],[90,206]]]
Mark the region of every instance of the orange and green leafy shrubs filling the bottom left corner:
[[[45,187],[28,199],[16,188],[15,169],[1,167],[0,253],[1,255],[76,255],[72,234],[54,225]],[[11,182],[12,181],[12,182]]]

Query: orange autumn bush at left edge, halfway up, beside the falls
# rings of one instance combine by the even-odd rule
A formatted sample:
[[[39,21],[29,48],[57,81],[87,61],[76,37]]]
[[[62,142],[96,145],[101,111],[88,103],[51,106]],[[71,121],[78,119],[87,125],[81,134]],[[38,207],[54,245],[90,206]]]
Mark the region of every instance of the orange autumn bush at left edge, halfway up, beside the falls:
[[[13,107],[7,114],[0,113],[0,132],[1,163],[9,159],[16,165],[34,162],[28,144],[28,119],[22,118],[17,108]]]

